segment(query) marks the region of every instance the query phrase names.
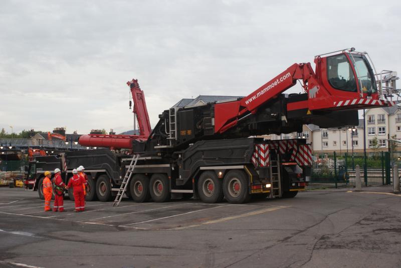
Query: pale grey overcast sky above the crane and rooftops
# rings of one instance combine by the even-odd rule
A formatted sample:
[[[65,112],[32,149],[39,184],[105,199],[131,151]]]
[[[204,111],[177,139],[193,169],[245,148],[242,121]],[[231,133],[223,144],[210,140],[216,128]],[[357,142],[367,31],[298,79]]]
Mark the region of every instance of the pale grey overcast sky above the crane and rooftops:
[[[2,1],[0,128],[133,129],[132,78],[153,127],[181,98],[245,96],[349,47],[401,72],[399,1],[278,2]]]

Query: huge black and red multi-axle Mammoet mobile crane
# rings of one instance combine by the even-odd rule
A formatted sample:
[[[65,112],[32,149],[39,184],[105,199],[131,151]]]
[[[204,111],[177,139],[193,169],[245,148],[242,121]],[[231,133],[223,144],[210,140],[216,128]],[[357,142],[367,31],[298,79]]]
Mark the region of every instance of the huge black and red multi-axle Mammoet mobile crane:
[[[204,202],[225,197],[232,203],[261,195],[294,197],[309,181],[311,145],[305,139],[273,141],[258,135],[300,132],[308,123],[323,128],[356,125],[358,109],[394,105],[383,99],[381,81],[377,87],[369,61],[367,53],[354,49],[318,55],[315,72],[310,63],[293,64],[246,97],[192,106],[178,102],[159,115],[153,130],[142,124],[146,127],[140,135],[122,138],[125,144],[114,136],[79,140],[84,146],[128,148],[134,156],[108,149],[67,152],[37,157],[36,167],[44,172],[57,161],[57,167],[70,169],[84,165],[89,188],[102,201],[113,190],[117,197],[126,192],[137,202],[188,195]],[[283,94],[297,81],[304,93]],[[148,122],[145,110],[137,111],[138,122]],[[87,199],[91,196],[93,192]]]

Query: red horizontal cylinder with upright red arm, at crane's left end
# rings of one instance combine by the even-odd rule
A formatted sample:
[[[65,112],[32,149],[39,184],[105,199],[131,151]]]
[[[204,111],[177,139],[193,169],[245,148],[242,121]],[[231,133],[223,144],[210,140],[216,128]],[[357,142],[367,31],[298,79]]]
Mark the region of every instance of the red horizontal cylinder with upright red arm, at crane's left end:
[[[132,79],[127,82],[130,87],[134,107],[134,119],[138,120],[139,135],[107,135],[107,134],[89,134],[82,135],[79,138],[79,144],[90,147],[109,147],[110,149],[132,149],[132,141],[145,141],[151,132],[149,115],[147,113],[145,95],[140,89],[138,80]],[[131,101],[129,102],[131,109]],[[135,122],[135,121],[134,121]],[[135,123],[134,123],[135,125]],[[135,128],[134,128],[135,129]]]

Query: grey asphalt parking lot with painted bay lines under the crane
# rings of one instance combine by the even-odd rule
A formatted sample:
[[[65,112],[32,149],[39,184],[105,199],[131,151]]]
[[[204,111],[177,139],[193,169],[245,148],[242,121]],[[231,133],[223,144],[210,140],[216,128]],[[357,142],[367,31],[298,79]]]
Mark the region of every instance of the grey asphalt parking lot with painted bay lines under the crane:
[[[399,267],[401,196],[386,186],[247,204],[87,202],[44,212],[0,188],[0,267]],[[28,265],[28,266],[27,266]]]

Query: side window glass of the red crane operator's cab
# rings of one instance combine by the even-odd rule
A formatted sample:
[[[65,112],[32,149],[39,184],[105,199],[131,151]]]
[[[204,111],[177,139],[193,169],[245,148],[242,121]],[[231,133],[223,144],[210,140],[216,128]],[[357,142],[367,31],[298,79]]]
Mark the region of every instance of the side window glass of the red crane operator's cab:
[[[357,90],[355,76],[345,54],[327,57],[327,77],[335,89],[351,92]]]

